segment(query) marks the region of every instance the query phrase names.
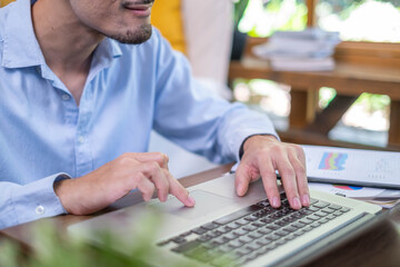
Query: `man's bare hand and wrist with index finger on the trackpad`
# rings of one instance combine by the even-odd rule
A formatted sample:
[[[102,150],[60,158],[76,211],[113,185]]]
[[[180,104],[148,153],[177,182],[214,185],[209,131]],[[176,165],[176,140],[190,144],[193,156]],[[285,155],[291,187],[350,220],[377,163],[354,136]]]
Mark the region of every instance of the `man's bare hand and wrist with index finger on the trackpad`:
[[[169,172],[168,156],[161,152],[123,154],[89,175],[54,185],[62,206],[74,215],[96,212],[132,189],[139,189],[146,201],[157,189],[161,201],[172,194],[186,206],[194,206],[194,199]]]

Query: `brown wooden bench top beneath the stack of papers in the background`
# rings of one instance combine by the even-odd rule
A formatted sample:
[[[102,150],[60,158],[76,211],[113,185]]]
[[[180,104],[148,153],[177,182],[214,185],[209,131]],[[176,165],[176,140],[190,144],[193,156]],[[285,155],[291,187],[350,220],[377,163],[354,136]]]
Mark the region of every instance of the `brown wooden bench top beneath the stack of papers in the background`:
[[[339,95],[359,96],[360,92],[388,95],[400,100],[400,66],[398,68],[337,62],[332,71],[274,71],[268,60],[251,56],[232,61],[230,79],[270,79],[292,86],[294,90],[331,87]]]

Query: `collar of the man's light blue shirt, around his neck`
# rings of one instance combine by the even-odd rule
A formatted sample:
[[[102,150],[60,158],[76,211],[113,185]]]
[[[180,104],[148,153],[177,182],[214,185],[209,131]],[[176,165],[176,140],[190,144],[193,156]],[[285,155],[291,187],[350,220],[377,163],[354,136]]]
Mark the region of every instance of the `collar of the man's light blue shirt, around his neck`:
[[[34,2],[36,0],[19,0],[10,7],[4,27],[3,67],[23,68],[46,63],[32,26],[31,4]],[[120,43],[109,38],[97,50],[100,50],[96,55],[101,57],[102,63],[110,63],[113,58],[122,56]]]

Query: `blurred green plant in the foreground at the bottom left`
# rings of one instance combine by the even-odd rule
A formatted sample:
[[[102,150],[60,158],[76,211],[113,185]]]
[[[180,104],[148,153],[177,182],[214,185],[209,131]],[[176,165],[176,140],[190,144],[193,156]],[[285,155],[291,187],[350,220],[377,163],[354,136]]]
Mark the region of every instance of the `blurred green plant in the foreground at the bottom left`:
[[[140,219],[140,229],[132,229],[132,237],[127,243],[110,231],[96,233],[93,243],[76,235],[63,235],[54,225],[43,220],[33,233],[33,250],[23,254],[21,247],[10,240],[4,240],[0,249],[0,266],[7,267],[122,267],[147,266],[154,257],[152,244],[160,225],[159,214],[148,214]],[[123,247],[128,254],[117,251]],[[23,256],[24,257],[21,257]],[[164,266],[177,266],[177,263],[164,263]],[[179,264],[178,264],[179,266]],[[183,267],[183,265],[181,265]]]

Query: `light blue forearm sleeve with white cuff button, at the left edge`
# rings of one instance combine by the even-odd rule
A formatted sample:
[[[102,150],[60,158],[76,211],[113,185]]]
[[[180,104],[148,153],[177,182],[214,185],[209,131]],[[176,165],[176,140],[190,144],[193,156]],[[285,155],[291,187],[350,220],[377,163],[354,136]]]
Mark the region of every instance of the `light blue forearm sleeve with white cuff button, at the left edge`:
[[[53,184],[62,179],[70,177],[57,174],[23,186],[1,181],[0,229],[67,214],[53,189]]]

